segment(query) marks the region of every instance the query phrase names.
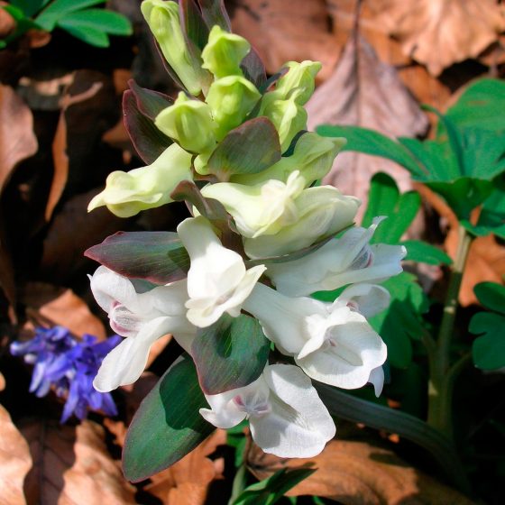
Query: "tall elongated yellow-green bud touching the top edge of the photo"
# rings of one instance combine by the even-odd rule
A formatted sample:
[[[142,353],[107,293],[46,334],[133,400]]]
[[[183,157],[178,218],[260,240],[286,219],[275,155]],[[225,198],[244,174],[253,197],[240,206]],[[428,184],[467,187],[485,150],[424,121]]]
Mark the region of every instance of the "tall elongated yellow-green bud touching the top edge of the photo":
[[[201,68],[197,48],[193,48],[193,54],[188,50],[180,28],[179,5],[171,0],[144,0],[141,11],[170,67],[189,93],[198,96],[210,76]]]

